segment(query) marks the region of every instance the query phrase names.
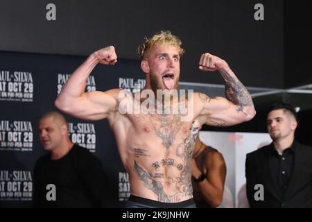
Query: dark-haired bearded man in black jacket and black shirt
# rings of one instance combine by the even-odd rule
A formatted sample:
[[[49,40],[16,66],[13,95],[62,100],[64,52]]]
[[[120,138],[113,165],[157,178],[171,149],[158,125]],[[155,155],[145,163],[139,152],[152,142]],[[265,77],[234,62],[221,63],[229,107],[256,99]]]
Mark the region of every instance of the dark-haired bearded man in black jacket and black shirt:
[[[312,148],[295,141],[295,109],[273,105],[267,127],[272,143],[246,157],[250,207],[312,207]]]

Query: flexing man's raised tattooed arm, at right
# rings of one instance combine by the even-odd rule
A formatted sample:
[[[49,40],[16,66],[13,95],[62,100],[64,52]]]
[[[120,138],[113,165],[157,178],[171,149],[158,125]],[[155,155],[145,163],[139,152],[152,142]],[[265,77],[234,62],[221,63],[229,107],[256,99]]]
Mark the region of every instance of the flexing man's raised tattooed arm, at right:
[[[202,71],[218,70],[225,80],[225,98],[211,98],[205,94],[198,95],[198,103],[202,106],[201,118],[210,126],[232,126],[237,123],[249,121],[256,111],[248,90],[229,68],[227,62],[212,56],[209,53],[202,54],[200,67]]]

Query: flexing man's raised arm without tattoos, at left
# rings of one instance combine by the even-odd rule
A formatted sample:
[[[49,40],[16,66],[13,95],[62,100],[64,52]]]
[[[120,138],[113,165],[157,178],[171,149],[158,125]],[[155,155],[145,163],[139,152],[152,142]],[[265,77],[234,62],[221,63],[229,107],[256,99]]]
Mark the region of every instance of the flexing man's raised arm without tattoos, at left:
[[[58,98],[57,108],[80,119],[97,120],[106,118],[110,112],[118,110],[118,93],[120,89],[107,92],[85,92],[86,81],[98,63],[114,65],[117,56],[114,46],[107,46],[92,53],[76,71],[71,74]]]

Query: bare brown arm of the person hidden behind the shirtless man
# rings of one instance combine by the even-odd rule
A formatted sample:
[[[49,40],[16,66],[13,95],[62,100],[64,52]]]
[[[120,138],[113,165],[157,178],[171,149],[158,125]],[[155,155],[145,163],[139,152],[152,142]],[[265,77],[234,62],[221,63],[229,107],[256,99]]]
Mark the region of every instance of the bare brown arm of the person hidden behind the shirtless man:
[[[226,166],[223,155],[218,151],[210,151],[205,157],[204,172],[201,172],[192,159],[192,174],[198,178],[201,173],[206,175],[205,180],[198,182],[198,189],[205,202],[211,207],[218,207],[223,199]]]

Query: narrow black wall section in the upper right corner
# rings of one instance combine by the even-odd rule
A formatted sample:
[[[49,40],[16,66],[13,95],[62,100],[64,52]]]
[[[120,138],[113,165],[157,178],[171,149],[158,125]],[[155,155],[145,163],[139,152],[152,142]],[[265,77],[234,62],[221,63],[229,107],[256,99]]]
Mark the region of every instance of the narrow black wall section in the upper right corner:
[[[285,87],[312,83],[311,1],[285,2]]]

